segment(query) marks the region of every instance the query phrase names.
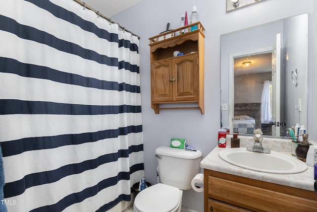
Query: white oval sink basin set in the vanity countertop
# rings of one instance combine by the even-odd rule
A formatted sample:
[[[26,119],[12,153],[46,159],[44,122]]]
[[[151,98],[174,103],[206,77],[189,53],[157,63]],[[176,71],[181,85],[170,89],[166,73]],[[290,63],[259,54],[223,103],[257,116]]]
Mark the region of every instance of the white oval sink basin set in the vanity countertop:
[[[219,152],[219,157],[233,165],[266,173],[295,174],[307,169],[306,163],[296,157],[274,151],[268,154],[246,148],[226,148]]]

